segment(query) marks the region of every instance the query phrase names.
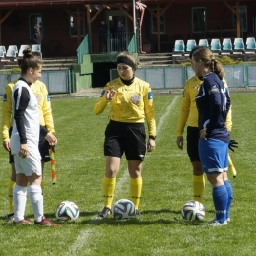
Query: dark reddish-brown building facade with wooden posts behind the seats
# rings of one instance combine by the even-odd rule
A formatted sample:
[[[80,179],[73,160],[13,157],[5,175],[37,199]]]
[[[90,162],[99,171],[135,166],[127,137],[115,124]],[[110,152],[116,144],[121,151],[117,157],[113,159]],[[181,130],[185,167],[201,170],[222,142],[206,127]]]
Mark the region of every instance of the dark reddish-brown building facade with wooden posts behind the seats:
[[[86,34],[91,51],[100,53],[94,46],[102,20],[108,26],[106,51],[112,50],[111,30],[122,20],[126,34],[138,30],[140,52],[171,52],[176,39],[255,36],[256,1],[1,0],[0,45],[32,44],[32,28],[39,24],[44,56],[75,56]]]

